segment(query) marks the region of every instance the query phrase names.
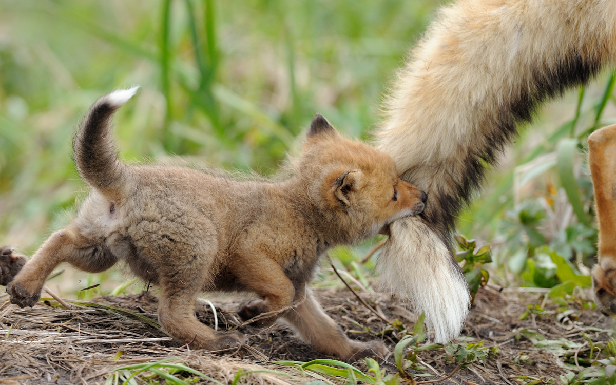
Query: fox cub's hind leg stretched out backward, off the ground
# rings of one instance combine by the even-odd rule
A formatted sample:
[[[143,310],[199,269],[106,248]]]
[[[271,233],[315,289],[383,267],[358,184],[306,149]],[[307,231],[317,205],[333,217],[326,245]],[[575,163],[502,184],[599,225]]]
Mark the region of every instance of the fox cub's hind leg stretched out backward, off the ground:
[[[10,302],[20,307],[33,306],[41,298],[41,290],[49,274],[62,262],[68,262],[89,273],[109,269],[116,257],[98,241],[83,237],[75,229],[59,230],[45,241],[30,261],[6,286]]]

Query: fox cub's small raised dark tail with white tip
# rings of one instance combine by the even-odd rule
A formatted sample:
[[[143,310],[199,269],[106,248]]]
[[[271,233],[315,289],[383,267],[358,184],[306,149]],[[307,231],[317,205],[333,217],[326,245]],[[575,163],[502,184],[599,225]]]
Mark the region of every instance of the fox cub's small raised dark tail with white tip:
[[[97,100],[79,124],[73,150],[79,174],[100,192],[113,194],[126,182],[126,164],[118,160],[111,140],[113,113],[131,99],[139,87],[111,92]]]

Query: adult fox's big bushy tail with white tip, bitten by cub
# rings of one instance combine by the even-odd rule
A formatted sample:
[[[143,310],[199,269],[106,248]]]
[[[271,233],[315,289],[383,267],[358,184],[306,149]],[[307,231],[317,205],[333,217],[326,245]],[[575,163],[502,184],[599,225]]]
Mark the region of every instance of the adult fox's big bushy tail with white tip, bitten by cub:
[[[386,102],[377,147],[428,193],[381,253],[389,285],[426,312],[436,341],[460,333],[469,297],[450,252],[455,218],[538,105],[616,56],[616,1],[460,0],[441,10]]]

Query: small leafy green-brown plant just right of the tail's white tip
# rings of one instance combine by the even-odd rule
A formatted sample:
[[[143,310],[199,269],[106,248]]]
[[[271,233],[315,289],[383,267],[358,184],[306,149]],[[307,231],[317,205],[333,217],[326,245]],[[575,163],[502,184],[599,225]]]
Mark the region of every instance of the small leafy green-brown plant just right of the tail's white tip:
[[[457,235],[456,241],[460,248],[456,253],[456,260],[461,264],[462,273],[471,291],[471,302],[474,302],[479,288],[487,285],[490,279],[490,274],[481,265],[492,262],[492,251],[490,245],[484,245],[475,251],[477,242],[474,239],[467,240],[463,235]]]

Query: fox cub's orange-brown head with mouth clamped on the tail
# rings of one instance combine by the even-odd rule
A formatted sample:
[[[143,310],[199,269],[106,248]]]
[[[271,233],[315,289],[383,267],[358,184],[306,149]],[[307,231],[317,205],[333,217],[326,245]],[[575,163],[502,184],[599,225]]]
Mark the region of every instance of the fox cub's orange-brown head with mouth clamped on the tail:
[[[398,177],[389,155],[344,139],[321,115],[310,124],[297,166],[326,225],[346,240],[371,237],[424,209],[426,194]]]

